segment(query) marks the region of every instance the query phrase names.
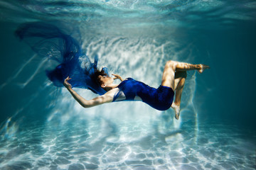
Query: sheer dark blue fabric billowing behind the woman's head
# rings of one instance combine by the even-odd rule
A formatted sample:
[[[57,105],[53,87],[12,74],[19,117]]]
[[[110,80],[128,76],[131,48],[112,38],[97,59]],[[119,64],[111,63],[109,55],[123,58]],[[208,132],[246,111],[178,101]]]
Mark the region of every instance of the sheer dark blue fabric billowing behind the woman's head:
[[[41,22],[23,23],[16,30],[16,35],[38,55],[59,63],[55,69],[46,70],[47,77],[55,86],[63,86],[64,79],[70,77],[73,87],[90,89],[100,95],[106,93],[95,77],[98,57],[95,56],[95,62],[90,62],[80,43],[70,35],[56,26]],[[105,70],[107,72],[107,68]]]

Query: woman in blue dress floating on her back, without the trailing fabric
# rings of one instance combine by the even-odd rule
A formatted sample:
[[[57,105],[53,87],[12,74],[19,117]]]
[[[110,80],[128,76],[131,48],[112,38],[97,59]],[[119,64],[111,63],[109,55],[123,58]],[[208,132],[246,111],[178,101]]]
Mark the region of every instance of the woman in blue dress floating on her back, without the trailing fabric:
[[[72,89],[71,84],[68,82],[71,79],[70,77],[67,77],[64,80],[63,85],[84,108],[90,108],[92,106],[113,101],[143,101],[159,111],[165,111],[170,107],[173,108],[175,111],[175,118],[178,120],[181,110],[181,94],[185,84],[186,71],[198,70],[199,73],[203,73],[205,69],[209,68],[210,67],[205,64],[188,64],[170,60],[166,62],[161,86],[159,86],[158,89],[154,89],[131,78],[123,80],[122,77],[117,74],[112,74],[114,76],[114,78],[112,78],[107,76],[104,71],[97,71],[95,72],[97,82],[102,89],[107,91],[107,93],[89,101],[82,98]],[[120,84],[113,84],[114,79],[119,79],[122,82]],[[176,91],[176,94],[173,103],[174,91]]]

